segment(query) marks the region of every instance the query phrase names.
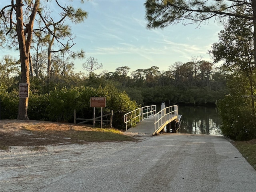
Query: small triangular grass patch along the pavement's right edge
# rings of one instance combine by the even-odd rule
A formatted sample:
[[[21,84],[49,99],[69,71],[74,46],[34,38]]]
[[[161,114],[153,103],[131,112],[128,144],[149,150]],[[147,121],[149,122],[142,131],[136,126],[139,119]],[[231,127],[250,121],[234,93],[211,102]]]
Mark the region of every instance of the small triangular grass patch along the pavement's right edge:
[[[233,144],[256,170],[256,139],[250,141],[236,141]]]

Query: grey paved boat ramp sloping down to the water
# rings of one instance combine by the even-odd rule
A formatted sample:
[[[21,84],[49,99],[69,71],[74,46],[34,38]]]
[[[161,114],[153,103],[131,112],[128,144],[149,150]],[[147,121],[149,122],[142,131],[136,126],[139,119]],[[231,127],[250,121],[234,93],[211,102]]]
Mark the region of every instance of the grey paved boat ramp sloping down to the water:
[[[160,134],[81,164],[39,191],[256,192],[256,171],[222,136]]]

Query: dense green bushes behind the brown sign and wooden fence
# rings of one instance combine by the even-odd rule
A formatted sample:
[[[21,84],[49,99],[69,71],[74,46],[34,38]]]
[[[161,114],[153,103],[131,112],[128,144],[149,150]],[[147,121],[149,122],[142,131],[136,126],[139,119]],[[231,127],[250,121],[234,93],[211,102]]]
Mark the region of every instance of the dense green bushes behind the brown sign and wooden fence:
[[[114,111],[113,126],[123,129],[125,127],[123,116],[138,105],[131,101],[126,92],[118,90],[114,85],[107,85],[104,88],[72,87],[61,88],[50,91],[30,93],[28,102],[28,117],[31,120],[48,120],[73,122],[74,109],[77,118],[93,118],[93,108],[90,107],[90,98],[93,96],[106,97],[104,114]],[[17,118],[18,113],[18,91],[7,92],[1,89],[1,119]],[[100,108],[96,108],[96,116],[100,116]]]

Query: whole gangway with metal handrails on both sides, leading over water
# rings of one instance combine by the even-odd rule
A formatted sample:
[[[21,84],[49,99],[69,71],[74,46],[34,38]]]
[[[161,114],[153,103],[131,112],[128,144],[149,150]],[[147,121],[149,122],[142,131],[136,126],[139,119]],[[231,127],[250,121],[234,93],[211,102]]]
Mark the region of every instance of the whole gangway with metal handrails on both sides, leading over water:
[[[156,135],[160,132],[178,132],[182,115],[178,105],[163,108],[156,113],[156,105],[138,108],[124,115],[127,132]],[[130,127],[128,129],[128,126]]]

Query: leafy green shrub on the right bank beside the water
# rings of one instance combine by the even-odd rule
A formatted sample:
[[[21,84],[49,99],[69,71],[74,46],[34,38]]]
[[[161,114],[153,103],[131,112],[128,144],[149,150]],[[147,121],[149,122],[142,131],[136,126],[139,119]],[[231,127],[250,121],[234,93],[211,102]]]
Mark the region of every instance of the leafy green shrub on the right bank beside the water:
[[[230,94],[218,104],[222,133],[234,140],[256,138],[256,115],[252,108],[248,84],[246,76],[233,74],[228,80]]]

